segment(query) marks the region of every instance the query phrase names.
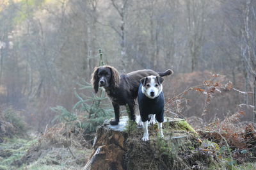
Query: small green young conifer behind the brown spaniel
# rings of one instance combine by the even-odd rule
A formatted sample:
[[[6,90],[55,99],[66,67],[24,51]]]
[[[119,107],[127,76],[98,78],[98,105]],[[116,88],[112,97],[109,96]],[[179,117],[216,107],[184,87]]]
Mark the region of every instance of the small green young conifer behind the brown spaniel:
[[[99,65],[104,65],[102,59],[102,50],[99,50]],[[77,83],[80,90],[93,89],[92,85],[85,80],[82,83]],[[102,125],[104,120],[113,117],[113,109],[109,104],[104,104],[108,100],[106,93],[102,88],[99,88],[99,96],[92,93],[92,96],[86,96],[83,93],[75,95],[78,102],[73,106],[72,111],[68,111],[65,107],[58,105],[53,107],[52,111],[57,112],[55,120],[65,123],[76,123],[77,126],[83,128],[85,133],[95,132],[98,125]],[[106,102],[105,102],[106,103]]]

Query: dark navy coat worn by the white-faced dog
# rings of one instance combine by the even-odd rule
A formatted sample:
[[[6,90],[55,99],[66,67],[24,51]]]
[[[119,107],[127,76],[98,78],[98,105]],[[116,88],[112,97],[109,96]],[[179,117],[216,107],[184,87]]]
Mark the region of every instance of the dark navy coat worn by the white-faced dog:
[[[141,91],[142,84],[138,91],[138,104],[140,109],[140,116],[143,122],[148,120],[149,114],[156,114],[156,120],[159,123],[164,121],[164,93],[163,91],[156,98],[148,98]]]

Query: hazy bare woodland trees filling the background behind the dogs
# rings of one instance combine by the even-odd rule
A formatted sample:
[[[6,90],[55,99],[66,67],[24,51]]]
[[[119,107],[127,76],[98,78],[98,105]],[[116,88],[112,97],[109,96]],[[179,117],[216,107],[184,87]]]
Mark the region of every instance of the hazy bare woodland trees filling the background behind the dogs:
[[[90,82],[102,49],[104,62],[120,73],[172,68],[166,101],[212,75],[232,86],[207,105],[200,89],[191,91],[171,113],[209,123],[243,111],[242,120],[252,121],[255,35],[252,0],[3,0],[1,110],[12,107],[43,132],[54,125],[52,107],[70,111],[77,93],[92,95],[79,84]]]

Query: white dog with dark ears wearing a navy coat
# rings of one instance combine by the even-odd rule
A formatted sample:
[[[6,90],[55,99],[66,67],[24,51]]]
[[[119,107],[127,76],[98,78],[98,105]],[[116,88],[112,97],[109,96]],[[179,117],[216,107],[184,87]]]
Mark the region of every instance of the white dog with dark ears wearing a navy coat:
[[[163,77],[150,75],[141,79],[138,91],[138,104],[140,109],[140,121],[143,124],[144,134],[142,141],[148,141],[148,115],[152,114],[150,124],[158,122],[159,135],[163,137],[162,123],[164,121],[164,94]]]

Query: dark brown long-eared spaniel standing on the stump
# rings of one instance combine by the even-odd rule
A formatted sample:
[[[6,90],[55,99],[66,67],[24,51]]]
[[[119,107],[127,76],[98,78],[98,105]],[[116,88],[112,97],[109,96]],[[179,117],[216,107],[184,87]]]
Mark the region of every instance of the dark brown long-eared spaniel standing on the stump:
[[[155,72],[154,70],[138,70],[135,72],[121,74],[118,73],[113,66],[99,66],[92,73],[92,86],[95,93],[99,87],[103,87],[111,98],[111,102],[115,111],[115,120],[110,121],[111,125],[118,125],[120,117],[120,105],[128,104],[131,115],[129,118],[135,121],[134,107],[135,98],[138,96],[138,88],[140,79],[148,75],[166,76],[171,75],[172,70],[168,69],[163,73]]]

